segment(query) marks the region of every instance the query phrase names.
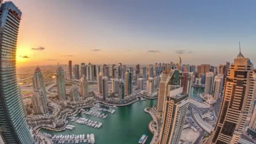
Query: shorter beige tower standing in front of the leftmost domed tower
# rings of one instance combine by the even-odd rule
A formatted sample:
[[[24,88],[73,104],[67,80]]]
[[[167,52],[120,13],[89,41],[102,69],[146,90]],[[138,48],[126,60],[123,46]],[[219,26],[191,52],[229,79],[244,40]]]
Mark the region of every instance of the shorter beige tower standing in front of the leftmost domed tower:
[[[43,115],[48,112],[47,99],[42,88],[34,88],[33,96],[31,97],[34,115]]]

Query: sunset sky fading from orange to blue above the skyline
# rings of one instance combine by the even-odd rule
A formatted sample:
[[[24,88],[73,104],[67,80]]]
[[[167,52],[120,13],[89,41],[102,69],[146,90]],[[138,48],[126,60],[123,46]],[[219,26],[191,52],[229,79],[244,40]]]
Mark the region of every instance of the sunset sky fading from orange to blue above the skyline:
[[[17,67],[256,63],[255,0],[12,0],[22,11]]]

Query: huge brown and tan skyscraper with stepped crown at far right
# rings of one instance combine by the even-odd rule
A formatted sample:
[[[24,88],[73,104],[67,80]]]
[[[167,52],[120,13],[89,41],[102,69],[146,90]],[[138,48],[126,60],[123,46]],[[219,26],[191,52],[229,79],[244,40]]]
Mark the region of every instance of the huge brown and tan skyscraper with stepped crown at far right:
[[[253,99],[253,64],[241,52],[231,64],[214,130],[206,144],[237,144]]]

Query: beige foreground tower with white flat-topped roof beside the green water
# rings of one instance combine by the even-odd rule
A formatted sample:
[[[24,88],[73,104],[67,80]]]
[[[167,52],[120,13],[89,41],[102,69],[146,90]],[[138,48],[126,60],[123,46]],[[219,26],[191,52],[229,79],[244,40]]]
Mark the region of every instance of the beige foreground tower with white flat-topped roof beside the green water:
[[[189,105],[188,94],[182,91],[178,88],[167,96],[158,144],[179,144]]]

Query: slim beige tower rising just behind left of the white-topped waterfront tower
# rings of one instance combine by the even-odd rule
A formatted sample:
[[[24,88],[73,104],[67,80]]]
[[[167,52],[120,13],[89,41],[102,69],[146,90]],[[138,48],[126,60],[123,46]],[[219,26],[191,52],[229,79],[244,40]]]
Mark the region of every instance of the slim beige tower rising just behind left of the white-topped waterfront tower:
[[[165,100],[165,83],[166,79],[169,75],[169,71],[165,70],[160,75],[160,81],[158,85],[158,96],[157,96],[157,111],[162,112],[163,111],[163,103]]]

